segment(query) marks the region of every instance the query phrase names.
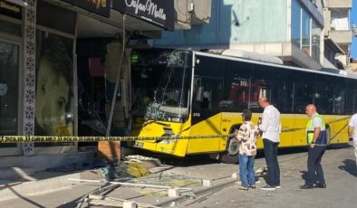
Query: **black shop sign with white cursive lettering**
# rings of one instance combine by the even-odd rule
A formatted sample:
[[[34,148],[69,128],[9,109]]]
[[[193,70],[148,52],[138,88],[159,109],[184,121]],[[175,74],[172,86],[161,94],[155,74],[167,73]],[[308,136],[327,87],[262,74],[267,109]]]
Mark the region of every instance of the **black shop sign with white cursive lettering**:
[[[173,0],[112,0],[112,8],[166,30],[174,30]]]

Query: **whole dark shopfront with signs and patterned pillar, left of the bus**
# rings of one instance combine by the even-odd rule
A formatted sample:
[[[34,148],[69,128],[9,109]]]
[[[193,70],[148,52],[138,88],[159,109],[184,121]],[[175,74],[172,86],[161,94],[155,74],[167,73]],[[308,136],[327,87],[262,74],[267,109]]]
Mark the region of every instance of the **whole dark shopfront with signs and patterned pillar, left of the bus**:
[[[92,101],[82,104],[97,103],[93,113],[105,110],[100,102],[106,92],[101,68],[106,43],[111,43],[116,34],[125,36],[123,31],[145,39],[174,29],[174,5],[167,0],[11,2],[16,4],[0,0],[2,135],[80,135],[79,108],[83,100],[79,94],[83,86],[92,88]],[[79,71],[89,74],[90,80],[81,80]],[[106,115],[99,116],[107,119]],[[77,143],[0,144],[0,156],[68,153],[77,149]]]

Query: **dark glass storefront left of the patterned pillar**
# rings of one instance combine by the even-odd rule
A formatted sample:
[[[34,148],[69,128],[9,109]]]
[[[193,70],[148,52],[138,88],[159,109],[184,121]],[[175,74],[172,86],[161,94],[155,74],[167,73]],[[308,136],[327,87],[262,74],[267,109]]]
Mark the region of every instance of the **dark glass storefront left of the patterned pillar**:
[[[20,69],[24,56],[23,9],[0,1],[0,134],[17,134],[21,128],[20,104],[23,84]],[[15,107],[15,108],[14,108]],[[16,108],[17,107],[17,108]],[[0,154],[21,154],[18,144],[0,144]]]

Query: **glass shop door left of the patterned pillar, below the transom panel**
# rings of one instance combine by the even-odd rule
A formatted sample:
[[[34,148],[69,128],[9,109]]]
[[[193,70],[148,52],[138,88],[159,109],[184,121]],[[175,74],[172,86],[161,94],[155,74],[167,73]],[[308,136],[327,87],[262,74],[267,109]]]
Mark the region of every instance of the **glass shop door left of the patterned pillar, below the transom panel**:
[[[17,135],[20,44],[0,38],[0,135]],[[20,155],[18,144],[0,144],[0,156]]]

